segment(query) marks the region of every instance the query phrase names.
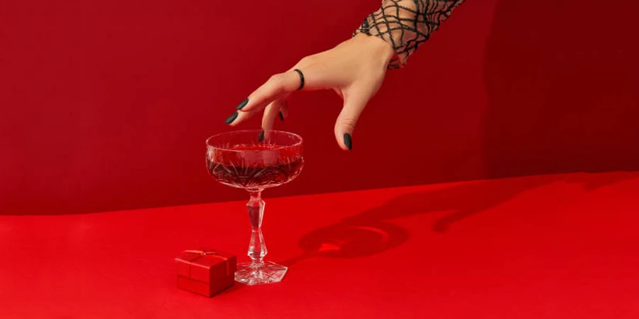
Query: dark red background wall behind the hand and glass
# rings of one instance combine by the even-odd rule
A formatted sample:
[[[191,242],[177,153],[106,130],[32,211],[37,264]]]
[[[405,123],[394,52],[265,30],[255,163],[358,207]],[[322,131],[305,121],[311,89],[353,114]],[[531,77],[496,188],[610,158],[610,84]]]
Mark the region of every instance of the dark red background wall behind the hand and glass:
[[[377,6],[1,1],[0,213],[244,198],[207,176],[204,139]],[[265,196],[638,169],[638,13],[630,0],[467,1],[388,74],[354,152],[334,142],[337,96],[294,96],[278,128],[305,138],[305,172]]]

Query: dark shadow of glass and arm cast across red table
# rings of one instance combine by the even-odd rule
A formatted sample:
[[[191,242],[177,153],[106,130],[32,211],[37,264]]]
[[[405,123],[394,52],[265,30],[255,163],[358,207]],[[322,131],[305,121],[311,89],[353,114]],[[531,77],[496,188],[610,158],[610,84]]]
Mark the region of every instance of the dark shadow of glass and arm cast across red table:
[[[487,211],[525,191],[547,184],[557,182],[579,184],[586,191],[594,191],[604,186],[637,178],[639,178],[639,172],[566,174],[559,177],[545,175],[478,181],[451,186],[447,189],[405,194],[391,199],[383,206],[307,233],[300,240],[300,247],[304,253],[283,264],[295,264],[303,259],[318,256],[356,258],[389,250],[410,238],[407,230],[390,223],[395,218],[454,211],[439,218],[431,226],[437,233],[446,233],[455,223],[465,218]]]

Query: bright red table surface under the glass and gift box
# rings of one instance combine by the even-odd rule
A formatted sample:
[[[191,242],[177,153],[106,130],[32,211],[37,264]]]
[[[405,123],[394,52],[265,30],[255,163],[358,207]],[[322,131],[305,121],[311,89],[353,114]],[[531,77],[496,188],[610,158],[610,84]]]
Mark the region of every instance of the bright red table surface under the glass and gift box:
[[[213,298],[173,258],[248,259],[243,202],[0,216],[0,318],[639,318],[636,173],[264,195],[290,270]]]

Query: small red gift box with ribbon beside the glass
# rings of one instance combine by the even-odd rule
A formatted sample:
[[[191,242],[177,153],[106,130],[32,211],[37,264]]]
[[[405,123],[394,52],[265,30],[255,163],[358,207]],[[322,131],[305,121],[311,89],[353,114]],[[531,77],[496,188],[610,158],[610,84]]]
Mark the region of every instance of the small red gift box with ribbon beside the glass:
[[[178,288],[211,297],[235,282],[237,257],[216,250],[185,250],[175,258]]]

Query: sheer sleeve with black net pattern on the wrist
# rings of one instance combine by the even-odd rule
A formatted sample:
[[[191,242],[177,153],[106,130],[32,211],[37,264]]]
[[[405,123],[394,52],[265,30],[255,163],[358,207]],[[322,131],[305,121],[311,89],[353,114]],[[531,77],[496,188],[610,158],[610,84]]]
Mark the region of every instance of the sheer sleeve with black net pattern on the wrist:
[[[425,43],[464,0],[383,0],[381,8],[368,15],[353,35],[376,35],[393,45],[396,55],[388,65],[406,64],[420,44]]]

